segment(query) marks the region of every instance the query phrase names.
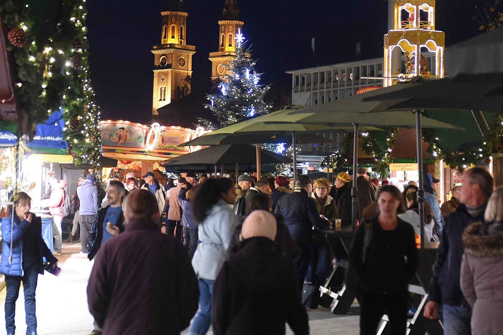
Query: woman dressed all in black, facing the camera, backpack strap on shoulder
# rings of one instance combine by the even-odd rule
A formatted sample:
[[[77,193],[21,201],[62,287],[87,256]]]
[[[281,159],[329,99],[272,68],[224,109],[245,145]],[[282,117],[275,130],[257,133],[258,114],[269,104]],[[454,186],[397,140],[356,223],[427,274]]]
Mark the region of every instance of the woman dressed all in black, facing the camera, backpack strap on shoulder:
[[[397,216],[405,209],[398,188],[382,186],[376,199],[379,214],[362,220],[349,254],[360,297],[360,334],[375,334],[386,313],[391,333],[405,335],[407,284],[418,264],[414,229]]]

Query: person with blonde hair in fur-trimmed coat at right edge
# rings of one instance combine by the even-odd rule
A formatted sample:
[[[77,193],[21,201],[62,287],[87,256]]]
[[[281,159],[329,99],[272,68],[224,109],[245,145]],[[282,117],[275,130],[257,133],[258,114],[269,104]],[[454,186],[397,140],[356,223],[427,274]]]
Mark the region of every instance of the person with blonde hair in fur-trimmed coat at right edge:
[[[462,186],[464,187],[464,185]],[[461,290],[472,307],[474,335],[503,329],[503,188],[498,187],[485,209],[485,224],[471,224],[463,233]]]

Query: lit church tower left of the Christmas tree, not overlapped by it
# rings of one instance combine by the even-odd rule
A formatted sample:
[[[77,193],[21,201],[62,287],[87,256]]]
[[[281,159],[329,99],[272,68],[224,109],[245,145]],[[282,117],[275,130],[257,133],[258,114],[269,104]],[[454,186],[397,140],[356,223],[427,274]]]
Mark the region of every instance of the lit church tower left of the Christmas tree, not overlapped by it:
[[[187,16],[183,0],[167,0],[161,12],[160,45],[154,45],[152,116],[157,109],[191,92],[192,55],[196,47],[186,44]]]

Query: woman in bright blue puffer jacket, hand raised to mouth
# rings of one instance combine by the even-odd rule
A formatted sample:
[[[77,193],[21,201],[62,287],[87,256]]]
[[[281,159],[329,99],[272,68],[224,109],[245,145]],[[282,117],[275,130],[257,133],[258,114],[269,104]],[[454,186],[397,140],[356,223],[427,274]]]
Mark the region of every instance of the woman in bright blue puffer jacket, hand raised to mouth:
[[[16,325],[16,300],[19,295],[21,281],[25,294],[26,333],[37,334],[37,317],[35,315],[35,290],[38,274],[44,274],[43,257],[54,267],[58,260],[52,256],[49,248],[42,240],[42,221],[40,217],[30,213],[31,198],[25,192],[13,195],[14,224],[11,216],[2,218],[2,260],[0,273],[5,275],[7,288],[5,298],[5,323],[7,334],[14,334]],[[12,239],[12,259],[11,256]]]

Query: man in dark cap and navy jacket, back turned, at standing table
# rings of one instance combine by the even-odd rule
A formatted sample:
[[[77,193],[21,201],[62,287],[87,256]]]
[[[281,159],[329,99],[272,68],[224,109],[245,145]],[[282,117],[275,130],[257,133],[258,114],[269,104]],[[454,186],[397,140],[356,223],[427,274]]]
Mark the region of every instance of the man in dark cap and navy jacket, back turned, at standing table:
[[[300,175],[295,181],[293,193],[283,196],[275,209],[285,218],[285,225],[300,249],[300,256],[294,261],[299,289],[304,285],[311,259],[312,228],[324,228],[328,222],[318,213],[316,203],[309,197],[311,192],[311,180],[307,175]]]

